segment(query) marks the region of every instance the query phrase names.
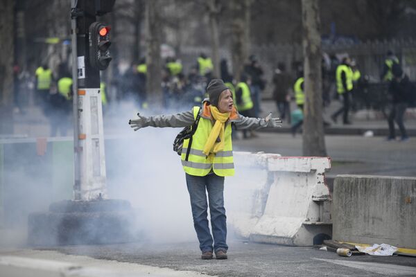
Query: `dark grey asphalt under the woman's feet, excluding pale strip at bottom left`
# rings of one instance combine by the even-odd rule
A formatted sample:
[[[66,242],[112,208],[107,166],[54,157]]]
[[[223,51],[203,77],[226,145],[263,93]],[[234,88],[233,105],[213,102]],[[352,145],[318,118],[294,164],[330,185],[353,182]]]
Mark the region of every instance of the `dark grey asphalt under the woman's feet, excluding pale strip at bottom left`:
[[[196,246],[198,244],[194,242],[143,243],[115,247],[66,247],[59,251],[176,270],[197,271],[214,276],[325,276],[326,274],[329,276],[379,276],[379,274],[394,275],[397,273],[416,275],[416,259],[408,257],[341,258],[336,253],[316,250],[313,247],[284,247],[232,241],[229,243],[228,260],[207,261],[200,260],[200,252]],[[340,267],[338,262],[343,266]],[[364,264],[366,267],[358,268],[354,262],[367,262],[368,264]],[[378,267],[373,263],[378,263],[376,264]]]

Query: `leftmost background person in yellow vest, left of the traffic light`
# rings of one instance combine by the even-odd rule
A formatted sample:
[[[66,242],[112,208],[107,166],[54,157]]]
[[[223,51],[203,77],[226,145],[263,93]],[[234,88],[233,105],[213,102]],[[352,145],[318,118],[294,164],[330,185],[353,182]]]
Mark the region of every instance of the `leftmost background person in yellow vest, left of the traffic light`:
[[[42,64],[36,69],[35,76],[37,103],[46,114],[49,109],[49,92],[53,81],[52,71],[46,64]]]

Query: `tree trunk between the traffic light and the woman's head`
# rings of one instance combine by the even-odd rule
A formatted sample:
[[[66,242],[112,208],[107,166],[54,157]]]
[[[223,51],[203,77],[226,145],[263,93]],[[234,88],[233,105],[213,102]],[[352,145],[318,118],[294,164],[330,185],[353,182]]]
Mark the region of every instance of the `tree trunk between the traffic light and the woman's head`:
[[[159,0],[146,1],[146,92],[150,107],[162,108],[162,59],[160,57],[160,41],[162,23],[160,21],[161,6]]]

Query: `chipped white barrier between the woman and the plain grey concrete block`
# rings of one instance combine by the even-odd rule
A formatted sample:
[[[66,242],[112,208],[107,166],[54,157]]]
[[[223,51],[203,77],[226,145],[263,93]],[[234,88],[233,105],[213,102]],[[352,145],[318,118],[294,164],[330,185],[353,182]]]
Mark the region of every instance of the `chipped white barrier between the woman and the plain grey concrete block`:
[[[239,235],[254,242],[297,246],[330,238],[331,196],[324,184],[329,158],[236,153],[239,166],[249,167],[257,177],[254,184],[261,184],[248,202],[252,213],[236,211],[230,216]],[[241,186],[246,178],[237,174],[234,182]]]

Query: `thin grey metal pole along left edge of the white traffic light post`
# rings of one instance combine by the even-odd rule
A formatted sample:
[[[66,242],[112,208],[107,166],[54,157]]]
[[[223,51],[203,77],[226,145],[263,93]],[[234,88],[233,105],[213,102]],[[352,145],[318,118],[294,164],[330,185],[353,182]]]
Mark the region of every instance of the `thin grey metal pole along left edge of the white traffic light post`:
[[[78,0],[71,0],[71,46],[72,46],[72,111],[73,111],[73,170],[74,170],[74,192],[80,186],[80,144],[78,141],[78,56],[77,56],[77,28],[76,28],[76,6]],[[74,200],[80,200],[80,195],[73,194]]]

